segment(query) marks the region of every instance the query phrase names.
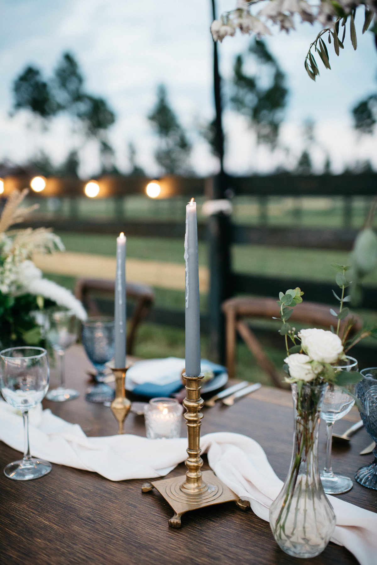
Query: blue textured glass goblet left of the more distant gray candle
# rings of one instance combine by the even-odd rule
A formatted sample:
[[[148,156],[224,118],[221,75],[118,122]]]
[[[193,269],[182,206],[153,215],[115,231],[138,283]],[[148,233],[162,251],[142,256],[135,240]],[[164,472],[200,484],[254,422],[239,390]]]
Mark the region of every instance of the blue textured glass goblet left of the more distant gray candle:
[[[106,383],[106,363],[114,357],[114,319],[98,316],[89,318],[81,328],[81,341],[86,355],[96,368],[96,385],[85,394],[88,402],[112,402],[114,389]]]

